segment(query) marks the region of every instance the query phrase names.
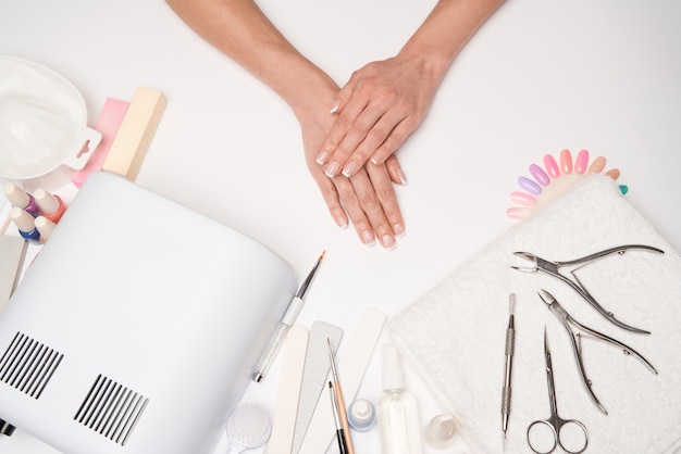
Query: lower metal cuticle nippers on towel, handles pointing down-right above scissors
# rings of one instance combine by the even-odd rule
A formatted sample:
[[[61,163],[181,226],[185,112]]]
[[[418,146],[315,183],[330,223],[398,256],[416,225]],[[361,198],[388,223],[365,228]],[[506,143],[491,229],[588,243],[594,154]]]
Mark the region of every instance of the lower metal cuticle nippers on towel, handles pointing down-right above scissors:
[[[574,318],[572,318],[570,314],[568,314],[568,312],[560,305],[560,303],[558,303],[558,301],[556,301],[556,299],[546,290],[540,290],[538,294],[542,298],[542,301],[544,301],[544,303],[548,305],[548,310],[553,312],[554,315],[558,317],[560,321],[562,321],[562,325],[568,331],[568,335],[570,336],[570,340],[572,341],[572,350],[574,352],[574,358],[577,360],[577,366],[580,370],[582,381],[584,382],[584,386],[586,387],[589,396],[594,402],[594,404],[596,404],[596,406],[598,407],[600,412],[603,412],[606,415],[608,414],[608,412],[605,409],[603,404],[596,398],[596,394],[594,394],[594,391],[591,389],[591,384],[592,384],[591,380],[586,377],[586,373],[584,370],[584,364],[582,362],[582,349],[581,349],[582,337],[584,336],[591,337],[596,340],[604,341],[606,343],[609,343],[611,345],[615,345],[621,349],[624,352],[624,354],[634,356],[636,360],[643,363],[643,365],[646,366],[653,374],[657,375],[657,370],[655,369],[655,367],[653,367],[653,365],[646,358],[644,358],[641,354],[639,354],[639,352],[636,352],[634,349],[602,332],[598,332],[594,329],[591,329],[580,324]],[[582,332],[575,333],[570,327],[570,325],[574,326],[575,328],[579,328]]]

